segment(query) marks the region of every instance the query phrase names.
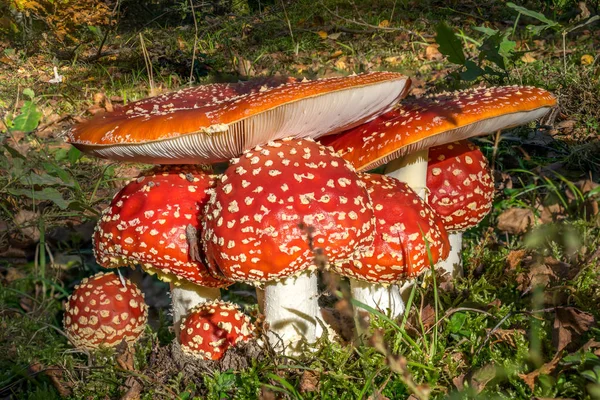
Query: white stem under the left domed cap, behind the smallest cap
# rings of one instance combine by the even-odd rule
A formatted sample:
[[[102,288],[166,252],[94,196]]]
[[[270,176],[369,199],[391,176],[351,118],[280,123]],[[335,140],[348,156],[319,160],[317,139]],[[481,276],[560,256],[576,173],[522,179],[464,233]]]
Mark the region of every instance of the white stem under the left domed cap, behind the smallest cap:
[[[198,286],[193,283],[182,282],[179,285],[171,283],[171,306],[173,309],[173,326],[175,334],[179,336],[179,323],[189,310],[200,303],[218,300],[221,298],[219,288]]]

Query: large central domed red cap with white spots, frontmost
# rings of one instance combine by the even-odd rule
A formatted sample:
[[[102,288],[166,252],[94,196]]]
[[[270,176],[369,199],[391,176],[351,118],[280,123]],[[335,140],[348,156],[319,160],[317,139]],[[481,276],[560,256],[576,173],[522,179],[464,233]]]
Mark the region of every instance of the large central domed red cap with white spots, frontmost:
[[[271,142],[234,159],[205,212],[209,267],[248,283],[284,279],[351,258],[373,241],[364,183],[331,149],[312,140]]]

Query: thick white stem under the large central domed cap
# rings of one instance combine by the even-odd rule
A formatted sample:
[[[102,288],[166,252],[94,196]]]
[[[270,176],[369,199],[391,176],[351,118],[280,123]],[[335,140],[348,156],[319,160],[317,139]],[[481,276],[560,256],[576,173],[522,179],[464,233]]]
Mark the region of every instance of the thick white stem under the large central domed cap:
[[[293,354],[305,340],[314,343],[323,329],[319,316],[319,289],[315,273],[303,273],[283,282],[267,283],[257,290],[258,304],[269,330],[267,336],[277,350]],[[262,293],[261,293],[262,292]]]

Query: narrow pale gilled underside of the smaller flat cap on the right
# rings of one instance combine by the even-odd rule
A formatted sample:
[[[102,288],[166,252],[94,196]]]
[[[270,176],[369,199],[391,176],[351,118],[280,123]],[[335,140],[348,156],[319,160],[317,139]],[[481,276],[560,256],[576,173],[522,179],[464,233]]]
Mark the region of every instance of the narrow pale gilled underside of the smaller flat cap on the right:
[[[472,124],[464,125],[445,132],[440,132],[437,135],[427,137],[416,143],[402,147],[389,156],[381,158],[370,165],[366,165],[364,168],[361,168],[361,170],[366,171],[377,168],[380,165],[387,164],[388,162],[404,157],[407,154],[412,154],[430,147],[441,146],[443,144],[464,140],[475,136],[484,136],[499,130],[524,125],[543,117],[549,110],[550,107],[542,107],[532,111],[520,111],[511,114],[505,114],[499,117],[493,117],[474,122]]]

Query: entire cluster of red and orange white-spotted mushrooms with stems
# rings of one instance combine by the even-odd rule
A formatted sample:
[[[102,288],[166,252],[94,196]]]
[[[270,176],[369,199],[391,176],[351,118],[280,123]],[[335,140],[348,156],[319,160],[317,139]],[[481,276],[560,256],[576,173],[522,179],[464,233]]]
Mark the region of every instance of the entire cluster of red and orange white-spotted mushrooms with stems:
[[[460,232],[491,208],[490,168],[467,139],[556,104],[523,86],[400,102],[409,87],[392,72],[261,78],[182,89],[75,126],[67,140],[88,154],[161,164],[103,212],[98,263],[170,282],[179,345],[204,359],[253,337],[248,317],[219,300],[235,282],[257,287],[268,340],[286,351],[323,334],[318,267],[348,277],[359,302],[400,315],[400,285],[434,265],[459,275]],[[76,289],[65,328],[93,348],[135,341],[145,322],[143,295],[108,273]]]

